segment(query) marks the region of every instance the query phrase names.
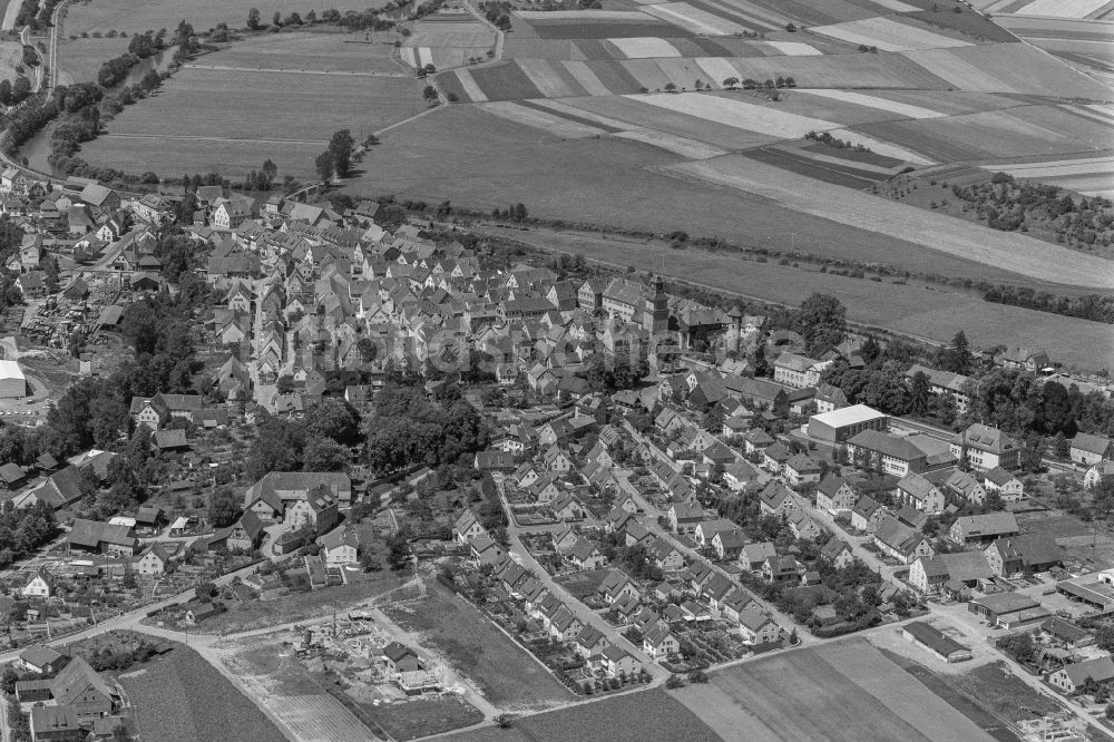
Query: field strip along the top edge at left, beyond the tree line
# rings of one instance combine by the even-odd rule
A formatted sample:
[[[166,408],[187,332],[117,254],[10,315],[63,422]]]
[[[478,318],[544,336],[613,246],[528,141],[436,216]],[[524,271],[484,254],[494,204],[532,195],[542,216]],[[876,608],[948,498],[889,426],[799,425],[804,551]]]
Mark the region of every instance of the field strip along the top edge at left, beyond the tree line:
[[[330,7],[343,13],[346,10],[363,10],[367,4],[341,0]],[[82,31],[116,30],[134,35],[150,29],[174,29],[183,19],[198,30],[214,28],[222,22],[229,28],[244,28],[251,8],[257,8],[264,19],[270,19],[276,11],[285,17],[293,11],[304,16],[311,10],[322,10],[314,0],[197,0],[187,6],[177,0],[84,0],[67,9],[65,32],[80,35]]]

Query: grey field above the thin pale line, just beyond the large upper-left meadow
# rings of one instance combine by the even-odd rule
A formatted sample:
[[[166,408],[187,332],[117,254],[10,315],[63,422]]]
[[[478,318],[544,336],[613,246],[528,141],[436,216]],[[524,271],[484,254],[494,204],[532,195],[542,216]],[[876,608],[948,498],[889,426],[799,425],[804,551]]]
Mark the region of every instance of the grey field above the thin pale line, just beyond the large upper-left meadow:
[[[202,57],[197,64],[246,70],[262,68],[407,75],[405,69],[391,59],[393,42],[388,42],[384,33],[377,37],[381,40],[364,42],[362,33],[261,36],[234,43],[218,53]]]

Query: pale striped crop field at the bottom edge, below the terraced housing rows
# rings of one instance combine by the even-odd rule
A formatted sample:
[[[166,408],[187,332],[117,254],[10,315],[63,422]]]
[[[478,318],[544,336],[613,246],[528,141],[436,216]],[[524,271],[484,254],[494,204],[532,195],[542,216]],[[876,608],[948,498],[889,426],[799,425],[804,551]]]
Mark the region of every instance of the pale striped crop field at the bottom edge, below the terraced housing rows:
[[[862,641],[713,673],[674,695],[724,739],[994,739]]]

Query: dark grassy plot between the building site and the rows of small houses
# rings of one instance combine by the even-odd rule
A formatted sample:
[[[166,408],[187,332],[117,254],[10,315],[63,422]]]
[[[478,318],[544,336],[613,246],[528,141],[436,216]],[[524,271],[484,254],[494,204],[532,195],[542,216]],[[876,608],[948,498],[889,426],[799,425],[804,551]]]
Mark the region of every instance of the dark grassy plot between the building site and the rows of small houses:
[[[500,707],[537,709],[573,700],[545,666],[437,582],[430,583],[427,598],[383,611],[407,631],[419,633],[423,646],[444,653]]]

